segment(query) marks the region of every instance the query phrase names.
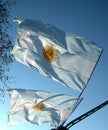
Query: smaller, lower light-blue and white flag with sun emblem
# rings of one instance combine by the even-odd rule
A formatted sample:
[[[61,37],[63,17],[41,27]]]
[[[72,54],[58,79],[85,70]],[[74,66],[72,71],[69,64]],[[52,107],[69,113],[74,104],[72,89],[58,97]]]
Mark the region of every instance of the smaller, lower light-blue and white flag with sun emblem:
[[[37,125],[49,123],[58,127],[64,123],[76,106],[79,98],[44,91],[10,89],[11,107],[8,113],[8,124],[31,122]]]

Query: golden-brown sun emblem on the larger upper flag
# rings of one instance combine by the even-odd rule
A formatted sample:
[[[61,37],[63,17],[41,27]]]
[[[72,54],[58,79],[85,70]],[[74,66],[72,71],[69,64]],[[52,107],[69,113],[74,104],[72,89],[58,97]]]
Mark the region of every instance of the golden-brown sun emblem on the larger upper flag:
[[[46,45],[44,47],[43,55],[48,61],[52,62],[56,59],[57,52],[54,46]]]

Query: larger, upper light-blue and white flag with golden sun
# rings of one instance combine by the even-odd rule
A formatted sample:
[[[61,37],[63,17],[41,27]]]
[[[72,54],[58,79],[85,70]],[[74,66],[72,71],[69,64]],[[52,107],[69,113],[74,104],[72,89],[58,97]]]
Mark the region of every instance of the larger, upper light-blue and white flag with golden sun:
[[[80,92],[86,87],[102,48],[86,38],[33,20],[18,20],[12,54],[41,74]]]

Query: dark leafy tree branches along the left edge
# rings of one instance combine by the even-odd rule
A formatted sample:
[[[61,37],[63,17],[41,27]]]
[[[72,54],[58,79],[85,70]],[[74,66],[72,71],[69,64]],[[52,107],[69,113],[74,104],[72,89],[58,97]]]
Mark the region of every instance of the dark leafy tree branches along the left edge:
[[[13,45],[8,31],[12,26],[9,17],[11,8],[14,4],[16,4],[14,0],[7,0],[5,2],[0,0],[0,95],[3,94],[4,88],[8,87],[7,81],[9,81],[9,65],[12,63],[10,52]]]

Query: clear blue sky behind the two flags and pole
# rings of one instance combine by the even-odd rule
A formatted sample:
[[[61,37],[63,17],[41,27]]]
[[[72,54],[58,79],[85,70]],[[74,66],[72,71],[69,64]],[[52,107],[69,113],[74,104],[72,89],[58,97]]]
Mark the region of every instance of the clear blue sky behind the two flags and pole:
[[[103,48],[102,56],[82,94],[84,98],[66,124],[93,107],[108,100],[108,1],[107,0],[19,0],[11,10],[10,20],[14,17],[41,20],[65,32],[81,35],[95,41]],[[18,25],[12,22],[10,35],[16,38]],[[10,76],[14,76],[10,88],[36,89],[54,93],[77,95],[72,89],[39,74],[37,71],[13,62]],[[9,98],[0,102],[0,130],[50,130],[48,124],[38,127],[26,123],[7,125]],[[108,106],[74,125],[70,130],[108,130]]]

